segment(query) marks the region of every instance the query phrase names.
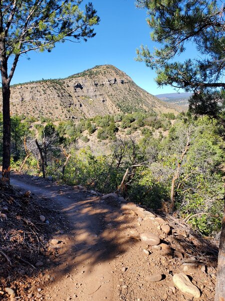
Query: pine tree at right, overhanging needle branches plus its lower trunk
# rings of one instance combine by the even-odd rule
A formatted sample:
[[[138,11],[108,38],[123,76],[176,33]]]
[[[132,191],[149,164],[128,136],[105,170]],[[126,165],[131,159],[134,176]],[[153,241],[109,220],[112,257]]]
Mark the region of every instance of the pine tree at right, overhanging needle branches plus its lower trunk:
[[[159,86],[192,92],[190,110],[219,120],[225,129],[225,6],[220,0],[137,0],[147,9],[151,40],[161,45],[152,52],[141,46],[137,60],[156,71]],[[195,59],[176,61],[188,44]],[[224,196],[225,201],[225,196]],[[219,245],[215,301],[224,300],[225,206]]]

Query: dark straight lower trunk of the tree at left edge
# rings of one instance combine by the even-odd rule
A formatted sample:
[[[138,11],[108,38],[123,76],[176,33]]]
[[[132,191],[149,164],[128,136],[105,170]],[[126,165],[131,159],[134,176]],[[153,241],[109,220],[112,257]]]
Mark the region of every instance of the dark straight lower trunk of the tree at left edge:
[[[11,121],[10,121],[10,86],[7,79],[2,77],[2,114],[3,114],[3,153],[2,153],[2,178],[5,184],[10,184],[10,141],[11,141]]]

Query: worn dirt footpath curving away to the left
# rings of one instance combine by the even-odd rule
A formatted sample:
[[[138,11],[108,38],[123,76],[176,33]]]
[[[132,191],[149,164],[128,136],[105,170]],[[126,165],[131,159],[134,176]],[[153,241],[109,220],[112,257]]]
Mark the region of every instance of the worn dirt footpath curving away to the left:
[[[132,223],[130,218],[124,219],[120,206],[102,206],[99,197],[47,181],[13,175],[11,184],[47,198],[69,221],[66,234],[55,235],[61,241],[52,245],[57,250],[57,268],[49,271],[54,280],[43,288],[44,299],[118,300],[114,295],[114,261],[128,247],[123,232]]]

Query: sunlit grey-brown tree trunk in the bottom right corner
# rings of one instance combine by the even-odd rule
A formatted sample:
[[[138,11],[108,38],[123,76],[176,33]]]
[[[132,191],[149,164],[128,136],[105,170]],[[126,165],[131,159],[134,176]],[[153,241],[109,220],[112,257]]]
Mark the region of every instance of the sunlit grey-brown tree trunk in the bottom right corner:
[[[225,191],[225,186],[224,186]],[[219,242],[219,254],[217,265],[217,277],[215,286],[214,301],[225,301],[225,193],[224,193],[224,210],[222,219],[222,229]]]

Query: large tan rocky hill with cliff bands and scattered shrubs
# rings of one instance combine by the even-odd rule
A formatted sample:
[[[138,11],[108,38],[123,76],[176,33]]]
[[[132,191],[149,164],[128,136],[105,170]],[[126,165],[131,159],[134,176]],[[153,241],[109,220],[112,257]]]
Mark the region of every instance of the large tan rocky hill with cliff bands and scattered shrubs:
[[[64,79],[11,86],[11,114],[80,119],[135,110],[177,112],[112,65],[96,66]]]

